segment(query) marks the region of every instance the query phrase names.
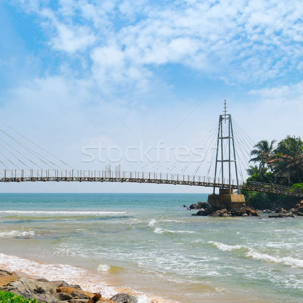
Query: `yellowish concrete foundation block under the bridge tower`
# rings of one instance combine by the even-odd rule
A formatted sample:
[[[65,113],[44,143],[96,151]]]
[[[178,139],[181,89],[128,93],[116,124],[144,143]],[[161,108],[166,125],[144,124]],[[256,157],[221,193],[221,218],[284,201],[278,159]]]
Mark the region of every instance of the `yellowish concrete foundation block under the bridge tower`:
[[[220,188],[219,194],[210,194],[207,201],[214,209],[231,210],[241,208],[245,203],[245,198],[243,194],[234,194],[233,189],[230,194],[229,189]]]

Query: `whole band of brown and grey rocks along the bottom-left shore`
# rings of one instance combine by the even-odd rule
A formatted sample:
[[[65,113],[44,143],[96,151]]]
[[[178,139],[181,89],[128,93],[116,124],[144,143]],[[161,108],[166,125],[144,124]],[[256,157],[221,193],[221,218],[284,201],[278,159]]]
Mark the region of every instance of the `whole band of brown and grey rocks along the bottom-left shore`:
[[[3,278],[3,280],[1,280]],[[7,280],[5,280],[7,279]],[[13,279],[13,280],[12,280]],[[79,285],[70,285],[65,281],[31,279],[19,277],[15,273],[0,270],[0,290],[10,291],[25,298],[35,298],[45,303],[136,303],[133,295],[117,293],[111,299],[102,295],[82,290]]]

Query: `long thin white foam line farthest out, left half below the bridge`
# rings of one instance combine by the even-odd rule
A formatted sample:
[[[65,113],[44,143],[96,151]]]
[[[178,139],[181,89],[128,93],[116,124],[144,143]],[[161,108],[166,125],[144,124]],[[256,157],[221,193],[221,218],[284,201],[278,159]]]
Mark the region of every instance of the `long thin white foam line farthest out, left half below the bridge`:
[[[86,216],[86,215],[96,215],[96,216],[103,216],[103,215],[122,215],[126,214],[127,212],[112,212],[112,211],[99,211],[99,212],[93,212],[93,211],[15,211],[15,210],[9,210],[9,211],[0,211],[2,214],[24,214],[24,215],[77,215],[77,216]]]

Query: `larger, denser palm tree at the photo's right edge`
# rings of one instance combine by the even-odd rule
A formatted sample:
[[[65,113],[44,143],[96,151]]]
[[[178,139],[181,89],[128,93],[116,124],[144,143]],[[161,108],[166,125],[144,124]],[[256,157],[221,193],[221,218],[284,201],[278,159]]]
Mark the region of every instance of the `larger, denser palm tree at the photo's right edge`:
[[[287,136],[278,143],[275,153],[276,173],[287,173],[288,183],[290,183],[291,175],[295,175],[301,183],[303,177],[303,142],[301,138]]]

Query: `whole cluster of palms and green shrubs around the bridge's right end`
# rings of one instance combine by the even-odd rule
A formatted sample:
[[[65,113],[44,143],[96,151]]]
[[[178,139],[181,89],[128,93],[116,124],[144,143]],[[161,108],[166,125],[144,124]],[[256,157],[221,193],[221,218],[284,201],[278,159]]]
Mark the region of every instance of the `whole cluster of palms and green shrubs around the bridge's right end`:
[[[292,188],[303,189],[303,141],[300,137],[287,136],[275,146],[276,140],[270,143],[261,140],[251,150],[249,162],[255,164],[246,171],[247,181],[274,183]],[[259,209],[296,203],[298,199],[264,192],[243,192],[247,205]]]

